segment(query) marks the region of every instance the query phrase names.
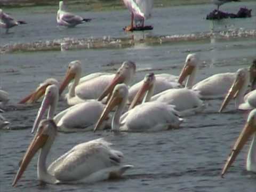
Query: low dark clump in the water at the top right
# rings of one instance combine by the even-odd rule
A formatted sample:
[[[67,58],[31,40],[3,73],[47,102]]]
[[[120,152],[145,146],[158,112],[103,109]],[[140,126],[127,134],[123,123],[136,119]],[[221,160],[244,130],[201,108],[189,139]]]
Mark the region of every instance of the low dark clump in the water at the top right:
[[[211,13],[207,14],[206,19],[214,20],[214,19],[225,19],[225,18],[249,18],[249,17],[252,17],[251,12],[252,10],[249,10],[246,7],[240,8],[237,14],[225,13],[222,11],[213,10]]]

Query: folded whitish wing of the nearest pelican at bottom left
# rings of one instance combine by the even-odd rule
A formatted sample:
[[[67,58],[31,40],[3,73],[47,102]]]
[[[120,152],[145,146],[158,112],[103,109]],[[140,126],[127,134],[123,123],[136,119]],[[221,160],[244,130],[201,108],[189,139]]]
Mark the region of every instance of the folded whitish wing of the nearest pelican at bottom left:
[[[60,181],[75,181],[111,166],[118,166],[123,154],[111,149],[110,145],[103,139],[81,143],[57,159],[49,170]]]

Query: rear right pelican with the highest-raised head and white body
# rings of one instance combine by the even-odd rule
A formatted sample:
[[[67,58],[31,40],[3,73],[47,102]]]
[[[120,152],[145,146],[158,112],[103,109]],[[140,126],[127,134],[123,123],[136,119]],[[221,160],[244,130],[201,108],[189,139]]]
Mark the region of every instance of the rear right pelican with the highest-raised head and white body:
[[[198,69],[198,55],[188,54],[178,82],[182,84],[187,78],[186,87],[200,94],[201,99],[223,98],[233,83],[236,73],[220,73],[212,75],[194,85],[196,71]],[[194,86],[193,86],[194,85]]]

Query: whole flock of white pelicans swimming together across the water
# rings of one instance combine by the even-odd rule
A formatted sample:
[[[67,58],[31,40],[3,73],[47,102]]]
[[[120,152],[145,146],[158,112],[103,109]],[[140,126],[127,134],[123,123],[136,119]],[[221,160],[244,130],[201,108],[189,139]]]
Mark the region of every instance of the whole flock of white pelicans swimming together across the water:
[[[70,62],[61,83],[53,78],[46,79],[19,102],[24,105],[34,103],[44,95],[33,125],[35,137],[20,162],[13,186],[38,150],[38,179],[46,183],[95,182],[118,178],[133,167],[122,164],[123,154],[111,149],[109,142],[97,139],[75,146],[46,168],[46,157],[57,131],[97,131],[109,127],[113,132],[177,129],[183,121],[181,117],[200,113],[207,107],[204,99],[225,98],[220,113],[231,99],[235,99],[236,108],[240,110],[256,107],[256,60],[249,68],[238,69],[236,73],[215,74],[194,84],[198,64],[198,55],[188,54],[179,76],[149,73],[129,88],[136,71],[132,61],[123,62],[116,74],[94,73],[84,77],[81,61]],[[71,107],[55,115],[59,98],[66,87],[66,99]],[[7,105],[7,99],[7,93],[0,91],[3,108]],[[47,109],[47,117],[43,119]],[[115,111],[112,117],[111,111]],[[6,123],[0,122],[0,126],[6,126]],[[248,153],[247,170],[256,172],[256,109],[250,112],[222,175],[251,135],[253,141]]]

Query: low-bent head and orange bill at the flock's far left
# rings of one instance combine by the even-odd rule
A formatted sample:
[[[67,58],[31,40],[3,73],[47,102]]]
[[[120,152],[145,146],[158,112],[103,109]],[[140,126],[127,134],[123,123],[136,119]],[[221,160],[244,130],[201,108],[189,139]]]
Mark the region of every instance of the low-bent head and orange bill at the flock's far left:
[[[46,79],[43,83],[41,83],[37,89],[30,93],[29,95],[27,95],[25,98],[23,98],[19,103],[35,103],[36,101],[38,101],[38,99],[40,99],[44,93],[45,90],[48,86],[50,85],[57,85],[59,86],[59,82],[54,79],[54,78],[48,78]]]

